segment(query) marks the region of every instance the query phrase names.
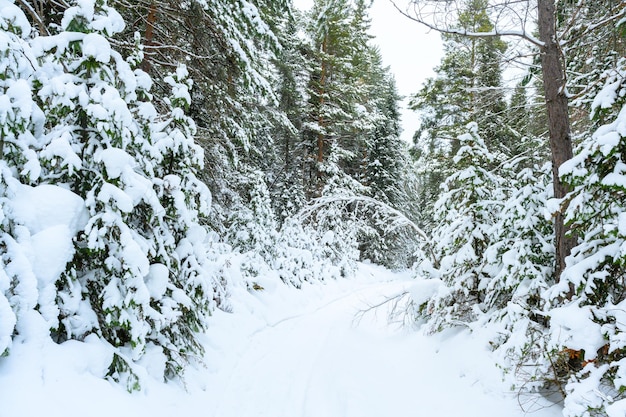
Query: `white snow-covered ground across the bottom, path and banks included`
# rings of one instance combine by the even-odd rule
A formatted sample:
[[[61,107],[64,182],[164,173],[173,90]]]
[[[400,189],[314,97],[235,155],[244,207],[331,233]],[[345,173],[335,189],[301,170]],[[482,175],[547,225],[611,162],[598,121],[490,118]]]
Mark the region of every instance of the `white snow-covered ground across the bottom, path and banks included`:
[[[508,392],[476,336],[389,326],[384,309],[355,320],[406,277],[363,265],[356,279],[302,290],[263,284],[235,289],[235,313],[215,314],[207,368],[189,373],[187,392],[148,381],[127,394],[95,377],[106,365],[97,343],[30,343],[0,359],[0,417],[561,415]]]

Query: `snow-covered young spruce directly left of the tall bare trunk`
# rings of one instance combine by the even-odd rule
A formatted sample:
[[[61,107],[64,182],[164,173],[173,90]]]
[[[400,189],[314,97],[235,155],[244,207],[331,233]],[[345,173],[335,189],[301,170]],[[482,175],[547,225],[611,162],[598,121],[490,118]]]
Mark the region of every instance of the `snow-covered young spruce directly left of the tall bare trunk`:
[[[524,390],[545,388],[548,304],[543,294],[554,284],[554,231],[546,216],[550,165],[539,165],[540,157],[530,159],[502,166],[506,198],[485,250],[492,278],[485,288],[486,314],[477,323],[489,323],[500,366]]]

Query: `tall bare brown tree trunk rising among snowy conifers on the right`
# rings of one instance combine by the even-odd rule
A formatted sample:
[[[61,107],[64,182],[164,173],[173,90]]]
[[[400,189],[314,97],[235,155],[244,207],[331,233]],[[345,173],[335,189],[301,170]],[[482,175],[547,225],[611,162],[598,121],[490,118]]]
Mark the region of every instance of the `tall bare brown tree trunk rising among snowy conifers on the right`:
[[[567,194],[568,188],[561,182],[559,168],[565,161],[573,157],[573,152],[568,103],[565,94],[563,60],[556,39],[554,4],[554,0],[538,0],[538,28],[539,38],[544,43],[541,50],[541,72],[548,113],[554,196],[562,198]],[[565,258],[576,245],[576,239],[566,236],[568,228],[564,223],[562,213],[557,214],[554,227],[556,234],[556,279],[558,281],[565,268]]]

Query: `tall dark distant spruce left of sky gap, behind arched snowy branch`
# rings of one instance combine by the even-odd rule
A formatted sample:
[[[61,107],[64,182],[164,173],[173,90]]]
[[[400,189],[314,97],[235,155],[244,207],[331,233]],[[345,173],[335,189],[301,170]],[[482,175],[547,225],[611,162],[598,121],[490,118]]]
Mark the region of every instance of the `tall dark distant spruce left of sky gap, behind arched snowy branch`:
[[[380,51],[372,48],[369,56],[365,80],[372,129],[363,132],[366,147],[359,152],[357,178],[368,187],[368,196],[411,217],[417,211],[412,189],[416,178],[408,146],[400,138],[400,97]],[[361,258],[388,267],[409,266],[415,250],[413,231],[394,227],[382,205],[370,209],[364,213],[368,222],[359,236]]]

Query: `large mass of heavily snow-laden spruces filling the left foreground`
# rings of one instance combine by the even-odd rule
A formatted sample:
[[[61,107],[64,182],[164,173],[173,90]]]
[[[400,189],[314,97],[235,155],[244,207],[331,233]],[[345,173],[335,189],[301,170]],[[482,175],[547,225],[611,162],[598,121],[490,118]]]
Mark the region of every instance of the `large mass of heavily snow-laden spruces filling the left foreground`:
[[[210,195],[196,177],[203,156],[185,116],[185,69],[165,78],[172,95],[160,115],[150,78],[131,66],[140,54],[125,60],[108,40],[121,16],[103,0],[69,3],[56,33],[30,36],[0,0],[0,350],[33,317],[59,342],[96,333],[114,347],[109,376],[134,389],[147,354],[161,361],[154,377],[181,375],[222,302],[223,283],[204,272],[199,217]],[[24,195],[43,204],[25,210],[38,200]],[[74,219],[39,213],[52,204],[45,195]],[[52,249],[40,244],[48,234],[63,236],[54,265],[37,258]]]

